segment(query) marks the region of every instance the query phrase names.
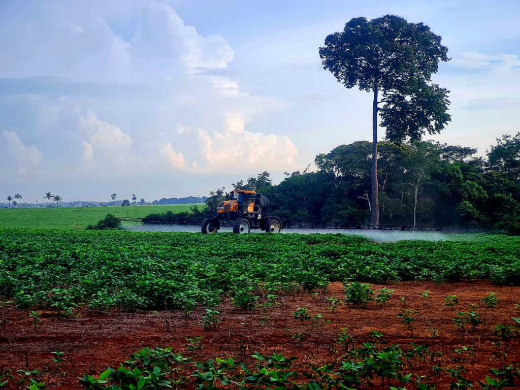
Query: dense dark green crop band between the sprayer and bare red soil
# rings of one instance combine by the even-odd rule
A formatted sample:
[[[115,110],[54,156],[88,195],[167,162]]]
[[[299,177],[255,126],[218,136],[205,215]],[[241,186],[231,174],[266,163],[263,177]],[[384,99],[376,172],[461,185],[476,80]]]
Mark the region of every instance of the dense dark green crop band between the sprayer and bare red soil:
[[[374,243],[344,235],[0,229],[0,295],[20,308],[71,313],[247,306],[261,291],[332,281],[491,279],[520,284],[520,238],[455,236]]]

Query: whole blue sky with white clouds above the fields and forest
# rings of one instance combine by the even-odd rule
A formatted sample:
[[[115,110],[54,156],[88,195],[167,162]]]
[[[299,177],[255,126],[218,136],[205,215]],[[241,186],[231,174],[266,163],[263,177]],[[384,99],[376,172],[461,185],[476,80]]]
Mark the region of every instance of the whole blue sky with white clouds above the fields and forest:
[[[0,202],[207,196],[370,140],[371,95],[323,70],[318,48],[387,14],[449,49],[433,81],[452,122],[426,138],[485,155],[520,131],[517,0],[2,0]]]

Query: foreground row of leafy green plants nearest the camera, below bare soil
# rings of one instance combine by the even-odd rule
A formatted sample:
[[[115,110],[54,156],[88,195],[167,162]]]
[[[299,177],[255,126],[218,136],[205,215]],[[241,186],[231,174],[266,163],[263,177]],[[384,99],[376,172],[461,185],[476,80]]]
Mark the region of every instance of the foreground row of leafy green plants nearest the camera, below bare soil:
[[[343,332],[344,333],[344,332]],[[477,383],[467,378],[466,367],[473,365],[476,354],[472,348],[457,350],[457,364],[444,367],[443,353],[428,345],[413,344],[401,348],[388,344],[379,332],[372,332],[372,339],[352,341],[345,345],[345,334],[336,343],[344,347],[340,359],[323,365],[310,363],[307,368],[296,365],[296,357],[283,354],[262,355],[255,352],[252,362],[228,358],[198,361],[201,339],[186,338],[183,356],[173,348],[145,347],[134,353],[119,367],[109,367],[97,375],[84,373],[78,378],[85,390],[121,389],[301,389],[301,390],[356,390],[365,388],[390,388],[392,390],[436,390],[441,383],[449,383],[450,389],[482,388],[483,390],[517,388],[520,368],[515,363],[496,362],[488,375]],[[347,335],[348,336],[348,335]],[[53,352],[58,370],[64,354]],[[431,375],[418,375],[427,368]],[[46,389],[40,370],[18,370],[20,383],[30,381],[31,389]],[[11,375],[12,376],[12,375]],[[0,388],[9,380],[0,376]],[[34,387],[33,387],[34,386]],[[386,387],[385,387],[386,386]]]

